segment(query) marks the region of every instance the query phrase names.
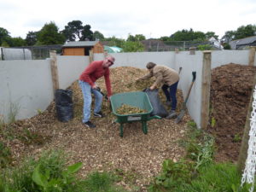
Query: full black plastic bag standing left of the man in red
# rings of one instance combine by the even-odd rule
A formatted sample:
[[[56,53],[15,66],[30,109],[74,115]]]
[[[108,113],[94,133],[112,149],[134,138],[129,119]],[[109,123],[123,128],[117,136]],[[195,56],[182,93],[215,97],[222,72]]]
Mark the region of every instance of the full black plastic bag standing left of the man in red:
[[[73,119],[72,90],[55,90],[55,107],[57,119],[67,122]]]

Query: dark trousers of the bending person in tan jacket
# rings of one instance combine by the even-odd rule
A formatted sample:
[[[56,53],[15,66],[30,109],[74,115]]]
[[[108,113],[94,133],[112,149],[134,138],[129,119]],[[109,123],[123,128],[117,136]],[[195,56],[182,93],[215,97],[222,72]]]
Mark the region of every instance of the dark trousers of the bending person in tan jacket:
[[[176,98],[177,83],[178,81],[175,84],[172,84],[171,86],[168,86],[167,84],[164,84],[162,86],[162,90],[166,95],[166,102],[172,102],[172,105],[171,105],[172,110],[176,110],[176,107],[177,107],[177,98]]]

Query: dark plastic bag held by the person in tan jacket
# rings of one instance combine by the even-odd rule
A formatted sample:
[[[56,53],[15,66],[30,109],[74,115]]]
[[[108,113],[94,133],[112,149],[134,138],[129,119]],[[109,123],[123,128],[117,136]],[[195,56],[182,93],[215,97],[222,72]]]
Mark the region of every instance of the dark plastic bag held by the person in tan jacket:
[[[168,112],[166,108],[162,105],[160,102],[160,97],[158,95],[158,89],[149,90],[145,89],[143,90],[148,95],[148,99],[151,102],[153,111],[150,113],[151,116],[158,115],[162,118],[165,118],[168,115]]]

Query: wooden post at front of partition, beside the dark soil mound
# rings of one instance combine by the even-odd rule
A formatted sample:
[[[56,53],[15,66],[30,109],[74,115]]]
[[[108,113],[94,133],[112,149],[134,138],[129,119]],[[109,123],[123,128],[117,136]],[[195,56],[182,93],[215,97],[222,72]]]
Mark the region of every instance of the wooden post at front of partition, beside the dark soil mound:
[[[203,51],[202,84],[201,84],[201,128],[206,129],[209,122],[211,90],[212,52]]]

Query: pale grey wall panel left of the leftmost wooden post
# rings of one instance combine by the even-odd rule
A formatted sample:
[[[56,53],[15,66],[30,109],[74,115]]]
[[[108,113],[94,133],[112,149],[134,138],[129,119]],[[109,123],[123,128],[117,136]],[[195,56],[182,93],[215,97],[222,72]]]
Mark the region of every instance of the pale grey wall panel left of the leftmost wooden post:
[[[49,60],[0,61],[0,115],[9,119],[10,108],[16,119],[26,119],[44,111],[53,101]]]

